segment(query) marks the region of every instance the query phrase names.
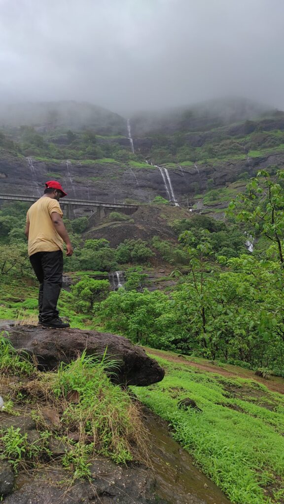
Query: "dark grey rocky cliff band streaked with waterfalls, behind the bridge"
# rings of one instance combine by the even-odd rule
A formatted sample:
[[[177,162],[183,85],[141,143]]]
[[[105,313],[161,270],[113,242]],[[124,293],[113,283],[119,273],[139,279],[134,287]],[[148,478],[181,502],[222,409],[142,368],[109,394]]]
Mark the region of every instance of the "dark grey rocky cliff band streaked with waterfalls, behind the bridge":
[[[284,165],[284,154],[271,154],[262,158],[223,161],[218,164],[197,164],[169,168],[172,188],[176,200],[186,206],[186,198],[206,190],[207,181],[213,179],[215,186],[223,186],[247,171],[255,174],[258,169],[271,164]],[[145,165],[147,166],[147,165]],[[59,180],[68,198],[120,202],[130,198],[149,203],[155,196],[169,199],[159,168],[137,168],[119,162],[79,161],[33,161],[31,168],[26,158],[0,159],[1,194],[33,194],[44,190],[46,180]]]

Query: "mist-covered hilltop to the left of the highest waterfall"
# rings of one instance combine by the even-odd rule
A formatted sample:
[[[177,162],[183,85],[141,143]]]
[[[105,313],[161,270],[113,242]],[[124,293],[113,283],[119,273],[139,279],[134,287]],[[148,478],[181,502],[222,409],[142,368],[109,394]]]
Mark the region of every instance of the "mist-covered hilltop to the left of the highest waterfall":
[[[42,130],[92,129],[98,135],[123,135],[126,120],[105,108],[87,102],[0,103],[0,127],[28,125]]]

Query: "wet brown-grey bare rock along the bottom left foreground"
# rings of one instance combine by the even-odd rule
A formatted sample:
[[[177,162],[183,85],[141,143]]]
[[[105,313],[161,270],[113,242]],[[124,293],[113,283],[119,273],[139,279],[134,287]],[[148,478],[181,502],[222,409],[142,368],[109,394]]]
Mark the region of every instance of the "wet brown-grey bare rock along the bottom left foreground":
[[[39,432],[27,413],[26,417],[1,413],[0,427],[19,427],[30,444],[40,446]],[[144,420],[149,436],[149,467],[135,462],[117,465],[97,456],[89,467],[91,480],[71,484],[70,473],[60,462],[68,446],[51,436],[51,454],[42,459],[40,470],[20,471],[15,481],[9,463],[0,464],[0,495],[7,504],[229,504],[221,490],[194,467],[191,456],[172,439],[167,422],[147,408]]]

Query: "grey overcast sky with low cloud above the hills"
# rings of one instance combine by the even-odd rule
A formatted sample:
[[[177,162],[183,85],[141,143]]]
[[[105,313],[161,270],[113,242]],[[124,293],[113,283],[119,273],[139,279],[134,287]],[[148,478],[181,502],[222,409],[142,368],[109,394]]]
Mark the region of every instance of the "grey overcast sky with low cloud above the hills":
[[[0,0],[0,99],[284,109],[283,0]]]

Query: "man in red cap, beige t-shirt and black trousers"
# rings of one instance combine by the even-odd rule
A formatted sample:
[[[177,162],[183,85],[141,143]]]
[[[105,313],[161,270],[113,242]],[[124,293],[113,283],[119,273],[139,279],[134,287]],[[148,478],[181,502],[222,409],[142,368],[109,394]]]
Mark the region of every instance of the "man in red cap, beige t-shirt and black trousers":
[[[70,327],[59,318],[57,301],[62,287],[63,242],[66,256],[72,256],[73,248],[62,221],[60,198],[67,194],[56,180],[45,183],[44,194],[28,210],[25,235],[28,238],[28,254],[39,281],[39,324],[43,327],[64,329]]]

